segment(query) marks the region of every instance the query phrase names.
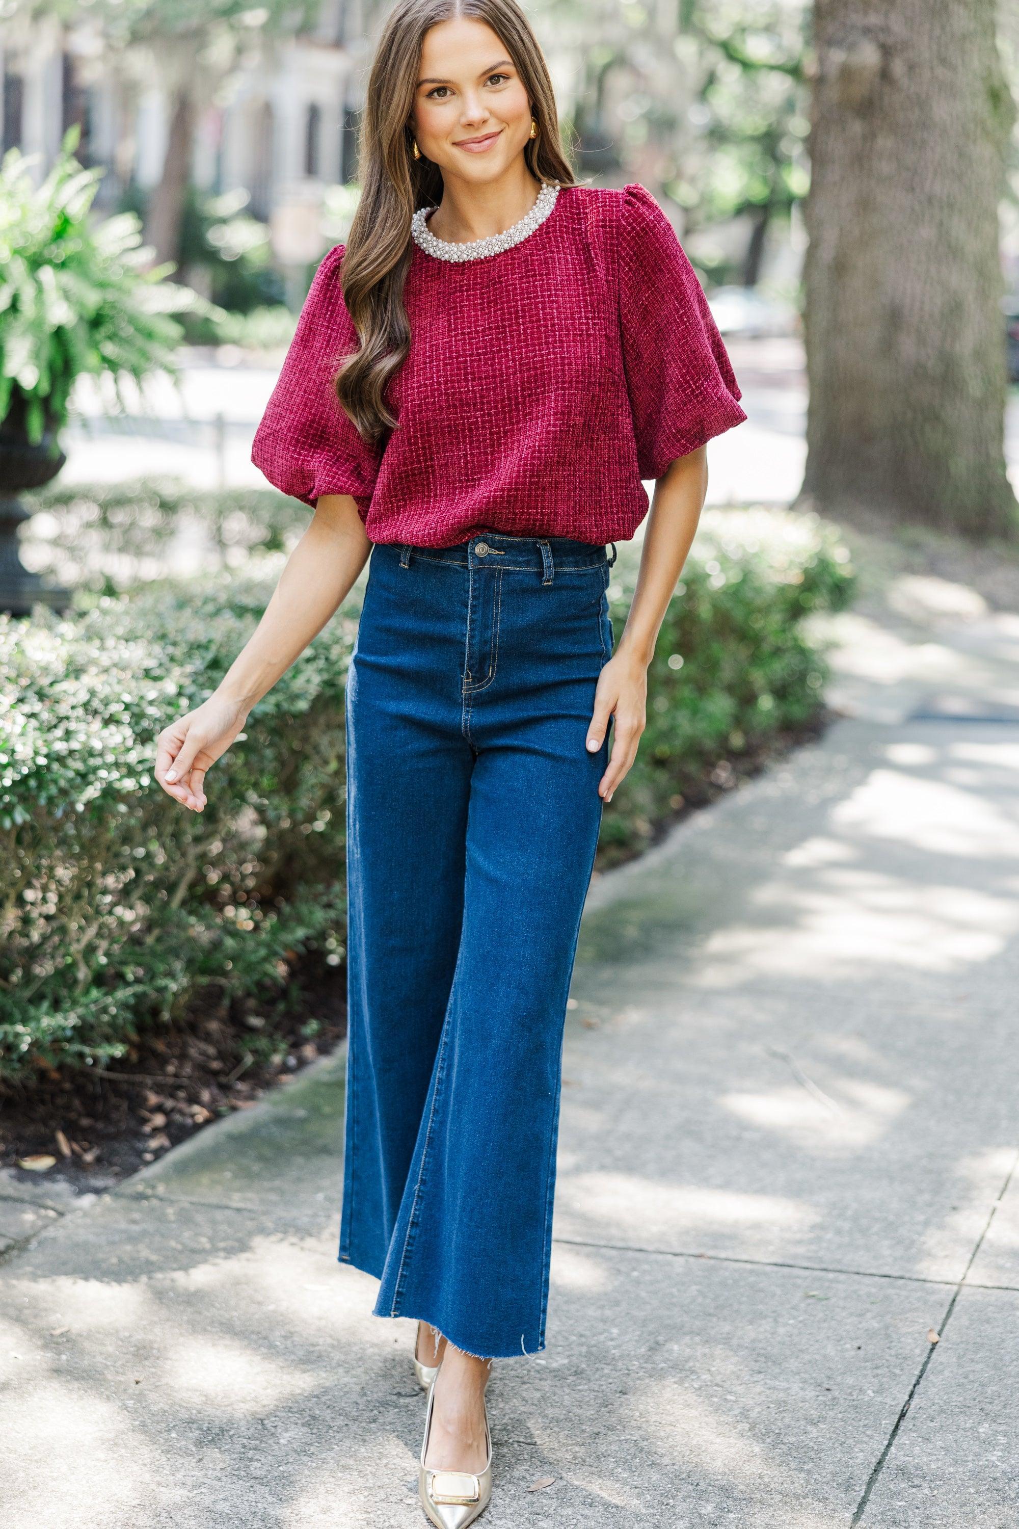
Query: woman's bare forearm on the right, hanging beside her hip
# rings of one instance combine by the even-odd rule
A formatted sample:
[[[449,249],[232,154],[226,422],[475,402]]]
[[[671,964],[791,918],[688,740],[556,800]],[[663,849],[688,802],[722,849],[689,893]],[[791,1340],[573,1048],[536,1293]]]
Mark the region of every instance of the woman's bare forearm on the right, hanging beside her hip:
[[[658,630],[691,550],[706,491],[707,456],[703,446],[678,457],[655,486],[637,587],[617,648],[645,665],[654,657]]]

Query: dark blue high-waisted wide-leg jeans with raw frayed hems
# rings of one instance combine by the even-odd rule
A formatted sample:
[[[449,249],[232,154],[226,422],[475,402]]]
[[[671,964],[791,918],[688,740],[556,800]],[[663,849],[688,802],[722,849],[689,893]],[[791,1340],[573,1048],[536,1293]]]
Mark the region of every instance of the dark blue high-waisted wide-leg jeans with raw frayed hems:
[[[380,1278],[376,1315],[483,1356],[545,1341],[608,578],[564,537],[380,543],[347,680],[339,1258]]]

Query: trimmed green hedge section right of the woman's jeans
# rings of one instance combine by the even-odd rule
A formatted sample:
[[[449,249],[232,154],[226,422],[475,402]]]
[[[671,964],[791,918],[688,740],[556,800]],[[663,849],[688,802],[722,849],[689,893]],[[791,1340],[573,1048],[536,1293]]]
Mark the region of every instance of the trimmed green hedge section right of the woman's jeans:
[[[622,630],[637,558],[626,547],[610,586]],[[632,855],[706,781],[729,784],[822,709],[823,654],[805,628],[852,598],[849,552],[831,526],[791,511],[707,511],[648,677],[640,752],[605,813],[600,864]]]

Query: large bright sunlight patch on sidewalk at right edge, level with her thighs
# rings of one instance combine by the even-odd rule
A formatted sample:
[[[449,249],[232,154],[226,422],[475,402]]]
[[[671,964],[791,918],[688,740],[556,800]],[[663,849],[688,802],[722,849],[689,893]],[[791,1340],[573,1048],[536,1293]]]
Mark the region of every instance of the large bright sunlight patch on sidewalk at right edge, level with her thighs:
[[[831,826],[852,839],[898,839],[932,855],[1007,859],[1019,853],[1019,823],[987,797],[888,769],[875,769],[840,803]]]

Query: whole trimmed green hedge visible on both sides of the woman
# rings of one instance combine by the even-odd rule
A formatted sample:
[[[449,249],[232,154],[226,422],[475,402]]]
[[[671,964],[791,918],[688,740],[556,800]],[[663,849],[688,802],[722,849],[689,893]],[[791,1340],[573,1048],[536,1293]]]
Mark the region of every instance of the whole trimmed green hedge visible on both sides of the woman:
[[[105,1064],[209,985],[269,1003],[298,956],[342,962],[354,599],[252,714],[203,815],[151,778],[156,734],[215,687],[278,567],[101,598],[66,621],[0,618],[0,1078]],[[619,624],[634,572],[623,549]],[[603,862],[720,758],[817,713],[823,664],[802,619],[845,604],[851,583],[814,517],[706,517],[662,628],[639,763],[605,810]]]

